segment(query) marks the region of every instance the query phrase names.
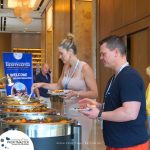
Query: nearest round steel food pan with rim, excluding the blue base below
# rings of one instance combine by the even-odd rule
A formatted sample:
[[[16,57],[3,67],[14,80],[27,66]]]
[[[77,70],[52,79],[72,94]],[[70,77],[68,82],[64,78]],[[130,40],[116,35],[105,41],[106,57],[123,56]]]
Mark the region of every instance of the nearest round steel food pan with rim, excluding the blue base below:
[[[42,122],[52,118],[52,122]],[[28,120],[26,122],[22,120]],[[36,121],[35,121],[36,120]],[[62,122],[62,120],[66,120]],[[2,128],[13,128],[21,130],[29,137],[57,137],[71,134],[71,124],[73,122],[58,115],[28,115],[18,117],[6,117],[2,119]]]

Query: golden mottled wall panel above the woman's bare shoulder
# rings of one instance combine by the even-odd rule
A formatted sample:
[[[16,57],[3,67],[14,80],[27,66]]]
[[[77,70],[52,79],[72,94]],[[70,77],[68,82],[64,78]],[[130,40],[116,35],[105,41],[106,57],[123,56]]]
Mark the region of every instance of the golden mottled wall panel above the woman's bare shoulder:
[[[77,55],[92,66],[92,2],[76,1],[74,15]]]

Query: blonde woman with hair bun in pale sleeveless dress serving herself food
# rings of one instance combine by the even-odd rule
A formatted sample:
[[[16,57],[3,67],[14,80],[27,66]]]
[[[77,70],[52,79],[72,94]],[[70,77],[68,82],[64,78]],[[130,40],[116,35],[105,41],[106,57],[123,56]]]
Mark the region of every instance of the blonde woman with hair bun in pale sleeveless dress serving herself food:
[[[95,99],[98,96],[97,85],[94,78],[94,72],[84,61],[77,58],[76,45],[73,35],[62,40],[58,46],[59,59],[64,63],[62,74],[57,83],[36,83],[33,88],[44,87],[50,90],[65,89],[70,90],[64,96],[66,116],[76,119],[82,126],[82,143],[88,143],[89,134],[92,128],[92,120],[76,111],[78,101],[81,98]]]

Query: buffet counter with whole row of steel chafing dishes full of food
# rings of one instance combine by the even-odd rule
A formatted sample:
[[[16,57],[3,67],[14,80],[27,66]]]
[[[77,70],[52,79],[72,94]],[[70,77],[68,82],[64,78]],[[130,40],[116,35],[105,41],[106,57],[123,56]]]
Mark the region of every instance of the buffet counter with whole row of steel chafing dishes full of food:
[[[62,100],[57,98],[51,99],[55,109],[46,108],[37,100],[2,98],[0,133],[22,131],[31,138],[35,150],[80,150],[81,126],[75,120],[57,115],[56,108],[62,107]]]

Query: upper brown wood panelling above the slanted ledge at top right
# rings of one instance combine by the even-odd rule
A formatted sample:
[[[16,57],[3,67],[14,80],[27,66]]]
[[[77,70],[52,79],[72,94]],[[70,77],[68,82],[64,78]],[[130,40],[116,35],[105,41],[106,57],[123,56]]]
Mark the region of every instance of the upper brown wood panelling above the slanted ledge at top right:
[[[101,39],[112,31],[123,29],[150,16],[149,0],[100,0],[99,3]]]

